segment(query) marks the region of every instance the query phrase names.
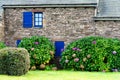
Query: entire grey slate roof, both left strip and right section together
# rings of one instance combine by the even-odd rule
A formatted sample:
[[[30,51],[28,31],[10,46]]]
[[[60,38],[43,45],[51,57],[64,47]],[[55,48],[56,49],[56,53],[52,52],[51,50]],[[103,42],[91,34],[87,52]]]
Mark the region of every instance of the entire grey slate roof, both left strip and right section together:
[[[96,4],[97,13],[94,17],[95,20],[120,20],[120,1],[119,0],[0,0],[0,6],[9,5],[9,6],[28,6],[28,5],[52,5],[55,6],[86,6],[88,4]],[[85,5],[86,4],[86,5]],[[61,7],[61,6],[60,6]],[[68,6],[69,7],[69,6]],[[2,12],[2,7],[0,7],[0,13]]]

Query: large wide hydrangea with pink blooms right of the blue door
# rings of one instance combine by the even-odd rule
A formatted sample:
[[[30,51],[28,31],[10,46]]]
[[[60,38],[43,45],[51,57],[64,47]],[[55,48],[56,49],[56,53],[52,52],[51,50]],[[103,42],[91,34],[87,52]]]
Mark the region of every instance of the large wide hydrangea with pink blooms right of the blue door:
[[[98,36],[70,43],[62,53],[64,69],[81,71],[119,71],[120,40]]]

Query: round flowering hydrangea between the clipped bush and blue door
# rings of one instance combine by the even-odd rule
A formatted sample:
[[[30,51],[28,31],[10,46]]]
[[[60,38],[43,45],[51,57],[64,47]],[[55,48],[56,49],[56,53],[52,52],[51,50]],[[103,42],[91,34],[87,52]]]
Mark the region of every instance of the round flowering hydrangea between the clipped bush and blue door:
[[[54,56],[54,45],[44,36],[23,38],[18,47],[23,47],[30,53],[32,70],[44,69]]]

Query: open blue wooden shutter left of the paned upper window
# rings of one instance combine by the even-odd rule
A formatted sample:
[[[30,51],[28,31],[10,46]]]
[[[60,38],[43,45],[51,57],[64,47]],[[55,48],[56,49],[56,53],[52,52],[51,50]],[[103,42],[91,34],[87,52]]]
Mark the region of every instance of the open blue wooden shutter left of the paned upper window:
[[[32,12],[23,12],[23,27],[32,28]]]

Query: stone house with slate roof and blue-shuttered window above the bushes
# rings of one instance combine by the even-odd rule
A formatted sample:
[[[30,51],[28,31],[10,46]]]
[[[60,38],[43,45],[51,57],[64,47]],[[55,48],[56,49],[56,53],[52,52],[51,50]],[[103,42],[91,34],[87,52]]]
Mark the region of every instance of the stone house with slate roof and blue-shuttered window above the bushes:
[[[120,38],[119,0],[1,0],[0,41],[16,46],[44,35],[68,44],[85,36]]]

